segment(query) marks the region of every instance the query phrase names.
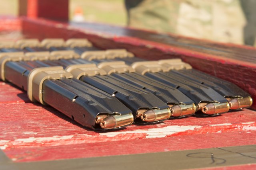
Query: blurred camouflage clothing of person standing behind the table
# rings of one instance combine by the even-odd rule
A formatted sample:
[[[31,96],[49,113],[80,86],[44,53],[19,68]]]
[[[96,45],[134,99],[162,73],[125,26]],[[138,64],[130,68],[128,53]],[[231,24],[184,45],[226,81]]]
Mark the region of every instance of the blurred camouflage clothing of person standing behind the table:
[[[129,2],[126,0],[126,7]],[[239,0],[137,0],[129,26],[219,42],[244,43],[246,18]]]

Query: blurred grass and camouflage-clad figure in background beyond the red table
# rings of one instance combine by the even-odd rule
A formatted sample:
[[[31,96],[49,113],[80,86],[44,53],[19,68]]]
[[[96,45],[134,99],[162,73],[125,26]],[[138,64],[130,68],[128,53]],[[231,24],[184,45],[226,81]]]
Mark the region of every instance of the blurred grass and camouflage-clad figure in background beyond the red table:
[[[0,15],[17,16],[18,0],[0,2]],[[256,0],[70,0],[69,8],[70,21],[256,46]]]

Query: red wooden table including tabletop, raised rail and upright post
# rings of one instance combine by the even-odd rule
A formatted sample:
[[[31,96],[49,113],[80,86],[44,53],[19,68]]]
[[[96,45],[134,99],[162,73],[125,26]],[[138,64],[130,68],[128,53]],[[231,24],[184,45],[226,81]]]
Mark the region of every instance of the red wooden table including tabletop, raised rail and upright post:
[[[254,83],[256,64],[254,63],[161,43],[156,39],[160,35],[154,32],[98,23],[74,24],[52,21],[68,20],[68,0],[20,0],[20,15],[23,17],[18,19],[1,18],[2,23],[6,24],[0,25],[0,31],[22,31],[25,37],[40,40],[87,38],[97,47],[125,48],[137,57],[149,60],[181,58],[198,70],[237,84],[256,100]],[[187,38],[175,35],[166,35],[166,37]],[[254,50],[253,47],[198,41]],[[71,158],[256,145],[256,111],[250,109],[234,111],[218,117],[188,117],[168,120],[156,125],[132,125],[120,131],[98,133],[80,127],[51,107],[30,103],[26,93],[8,83],[0,82],[0,89],[0,149],[12,162],[38,161],[40,164],[41,161]],[[256,109],[256,103],[252,108]],[[234,158],[240,160],[243,160],[239,157],[241,154],[246,155],[246,159],[251,164],[239,161],[229,164],[227,161],[228,163],[210,164],[210,162],[206,165],[202,160],[202,166],[199,163],[195,166],[191,165],[190,168],[212,166],[217,166],[212,169],[232,170],[256,168],[255,155],[251,155],[248,150],[241,151],[241,154],[234,150],[231,152],[235,153]],[[174,154],[170,152],[172,153]],[[223,155],[217,154],[216,157],[221,156]],[[190,159],[183,160],[184,164],[186,161]]]

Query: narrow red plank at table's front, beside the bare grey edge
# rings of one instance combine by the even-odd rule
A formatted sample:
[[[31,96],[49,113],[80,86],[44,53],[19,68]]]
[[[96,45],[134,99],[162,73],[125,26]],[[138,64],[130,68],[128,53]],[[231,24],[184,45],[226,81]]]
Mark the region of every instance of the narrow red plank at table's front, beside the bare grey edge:
[[[253,145],[256,131],[182,135],[156,139],[108,141],[72,145],[22,147],[3,150],[16,162],[90,158],[123,154],[167,152],[175,150],[206,149]]]

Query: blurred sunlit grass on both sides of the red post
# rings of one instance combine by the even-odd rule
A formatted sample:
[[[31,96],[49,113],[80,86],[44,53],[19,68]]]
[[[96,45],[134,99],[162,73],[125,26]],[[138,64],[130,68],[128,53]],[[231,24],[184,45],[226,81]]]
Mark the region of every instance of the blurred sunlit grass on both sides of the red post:
[[[18,15],[18,0],[0,0],[0,15]],[[126,25],[124,0],[70,0],[69,18],[82,9],[84,21]]]

